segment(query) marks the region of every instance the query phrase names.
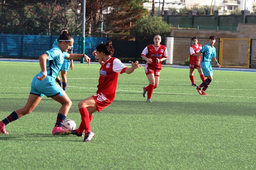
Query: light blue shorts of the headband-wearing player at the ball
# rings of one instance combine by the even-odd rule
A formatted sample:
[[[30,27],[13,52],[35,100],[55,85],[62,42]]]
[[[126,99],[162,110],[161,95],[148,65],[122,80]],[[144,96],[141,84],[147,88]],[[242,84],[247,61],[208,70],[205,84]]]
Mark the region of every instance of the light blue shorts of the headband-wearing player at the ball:
[[[46,78],[41,81],[37,80],[37,76],[41,76],[42,73],[34,76],[31,82],[30,94],[38,95],[41,97],[47,96],[48,98],[59,95],[62,96],[63,89],[58,86],[55,82],[55,79],[51,76],[46,76]]]

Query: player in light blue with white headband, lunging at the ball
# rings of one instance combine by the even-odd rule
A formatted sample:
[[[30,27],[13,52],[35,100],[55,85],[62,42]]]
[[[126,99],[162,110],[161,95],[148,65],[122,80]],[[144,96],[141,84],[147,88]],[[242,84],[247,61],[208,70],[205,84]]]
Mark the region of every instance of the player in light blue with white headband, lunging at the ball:
[[[88,62],[90,65],[90,58],[87,55],[66,53],[72,47],[73,43],[74,39],[72,36],[68,33],[61,34],[58,46],[46,51],[39,57],[41,72],[36,74],[32,79],[30,94],[26,105],[21,109],[13,111],[8,117],[0,121],[0,133],[8,134],[5,126],[31,113],[44,95],[56,100],[62,105],[58,112],[55,127],[52,129],[52,134],[70,133],[67,129],[62,128],[62,123],[68,114],[72,102],[66,92],[55,83],[55,79],[60,71],[64,58],[78,59],[84,57],[85,62]]]

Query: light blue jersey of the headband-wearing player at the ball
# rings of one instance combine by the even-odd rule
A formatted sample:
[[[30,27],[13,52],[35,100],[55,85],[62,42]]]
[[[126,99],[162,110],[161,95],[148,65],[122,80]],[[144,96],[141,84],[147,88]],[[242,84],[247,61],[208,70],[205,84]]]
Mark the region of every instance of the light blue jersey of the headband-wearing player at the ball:
[[[48,55],[48,60],[46,61],[47,74],[55,80],[64,62],[64,57],[67,57],[68,53],[62,52],[58,46],[53,47],[45,53]]]

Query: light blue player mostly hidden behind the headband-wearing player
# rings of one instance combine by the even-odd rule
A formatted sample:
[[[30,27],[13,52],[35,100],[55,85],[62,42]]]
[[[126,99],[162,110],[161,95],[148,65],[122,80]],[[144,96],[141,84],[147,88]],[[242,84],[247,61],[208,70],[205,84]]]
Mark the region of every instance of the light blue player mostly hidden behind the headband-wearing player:
[[[63,28],[60,32],[60,34],[63,34],[63,33],[68,33],[68,29],[66,28]],[[52,47],[58,45],[59,43],[59,40],[58,38],[55,39]],[[71,48],[68,50],[68,53],[69,54],[73,54],[73,45],[71,46]],[[68,59],[65,59],[64,58],[64,62],[61,66],[61,78],[62,78],[62,82],[61,82],[61,79],[59,76],[57,76],[56,78],[56,82],[58,82],[58,84],[60,84],[60,87],[63,88],[63,90],[65,91],[66,90],[66,87],[67,87],[67,73],[68,73],[68,68],[69,68],[69,61],[70,61],[70,69],[72,70],[74,68],[74,64],[73,64],[73,60],[68,60]]]

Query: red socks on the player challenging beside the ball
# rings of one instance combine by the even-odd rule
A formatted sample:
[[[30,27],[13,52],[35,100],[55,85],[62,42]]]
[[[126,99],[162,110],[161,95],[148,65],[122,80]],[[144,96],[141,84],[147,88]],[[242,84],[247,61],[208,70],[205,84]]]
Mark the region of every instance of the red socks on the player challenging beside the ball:
[[[80,114],[81,114],[81,119],[82,119],[82,122],[79,126],[79,128],[77,129],[77,133],[79,132],[84,132],[84,131],[92,131],[91,129],[91,124],[90,124],[90,116],[89,116],[89,112],[87,110],[86,107],[82,108],[82,109],[79,109],[80,111]]]

